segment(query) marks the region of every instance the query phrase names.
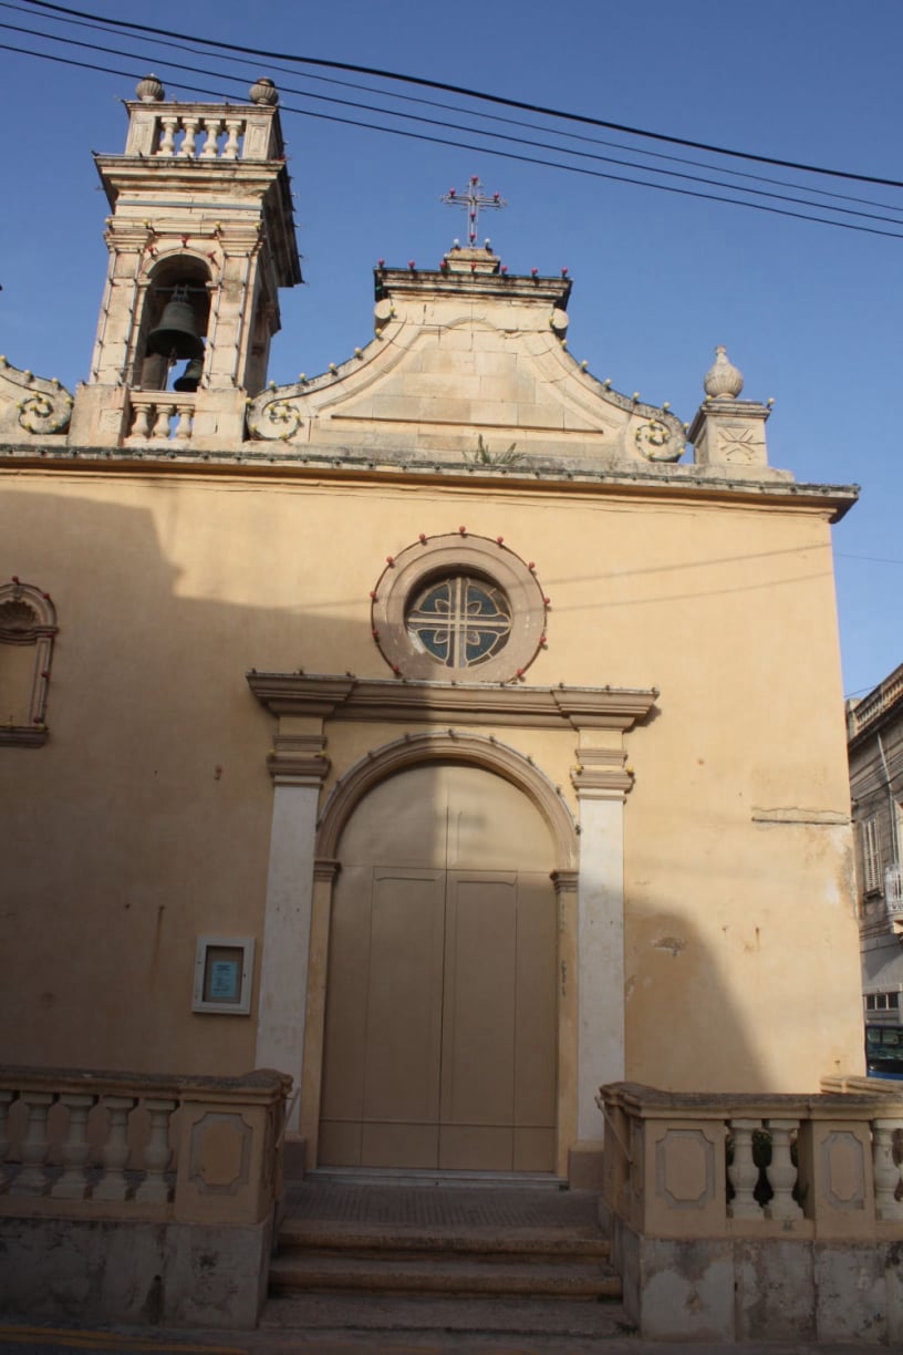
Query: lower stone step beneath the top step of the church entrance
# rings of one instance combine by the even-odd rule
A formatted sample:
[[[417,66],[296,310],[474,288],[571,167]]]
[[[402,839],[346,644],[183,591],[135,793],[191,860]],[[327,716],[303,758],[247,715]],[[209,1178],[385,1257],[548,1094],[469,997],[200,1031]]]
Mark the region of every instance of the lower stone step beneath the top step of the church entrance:
[[[555,1298],[620,1298],[621,1285],[604,1262],[571,1259],[567,1264],[547,1257],[474,1260],[471,1256],[440,1259],[324,1256],[292,1251],[276,1256],[269,1267],[271,1294],[296,1291],[353,1291],[363,1294],[441,1294]]]

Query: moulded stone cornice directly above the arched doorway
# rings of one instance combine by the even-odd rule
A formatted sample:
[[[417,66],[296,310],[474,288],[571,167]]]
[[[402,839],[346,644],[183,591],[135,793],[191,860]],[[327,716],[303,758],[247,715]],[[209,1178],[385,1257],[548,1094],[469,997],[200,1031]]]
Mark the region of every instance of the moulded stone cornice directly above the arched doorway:
[[[403,724],[628,730],[658,692],[615,687],[459,686],[386,678],[248,673],[248,686],[273,715]],[[288,749],[287,749],[288,752]],[[307,756],[307,753],[305,753]],[[315,755],[314,755],[315,756]],[[279,755],[273,755],[273,762]],[[317,757],[317,764],[325,759]],[[630,785],[630,778],[628,778]]]

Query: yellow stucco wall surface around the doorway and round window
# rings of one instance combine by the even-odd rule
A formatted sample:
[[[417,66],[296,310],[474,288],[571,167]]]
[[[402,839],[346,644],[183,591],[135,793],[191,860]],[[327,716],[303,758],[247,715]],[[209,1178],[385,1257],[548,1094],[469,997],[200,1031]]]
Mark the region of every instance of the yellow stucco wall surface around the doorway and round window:
[[[528,683],[661,691],[627,734],[627,1076],[804,1091],[860,1069],[827,507],[57,463],[8,474],[0,512],[4,572],[60,619],[50,740],[0,749],[4,1060],[252,1066],[253,1012],[191,1012],[195,938],[261,940],[273,721],[245,673],[390,676],[384,558],[464,524],[551,599]],[[329,726],[332,779],[398,733]],[[497,733],[577,814],[574,732]]]

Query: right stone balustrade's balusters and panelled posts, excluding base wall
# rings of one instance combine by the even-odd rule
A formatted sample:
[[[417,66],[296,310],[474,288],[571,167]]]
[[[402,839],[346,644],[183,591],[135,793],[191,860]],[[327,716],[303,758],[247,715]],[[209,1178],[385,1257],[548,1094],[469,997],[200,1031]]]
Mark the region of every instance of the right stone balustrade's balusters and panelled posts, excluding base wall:
[[[616,1083],[598,1104],[605,1205],[644,1236],[903,1237],[903,1085],[708,1096]]]

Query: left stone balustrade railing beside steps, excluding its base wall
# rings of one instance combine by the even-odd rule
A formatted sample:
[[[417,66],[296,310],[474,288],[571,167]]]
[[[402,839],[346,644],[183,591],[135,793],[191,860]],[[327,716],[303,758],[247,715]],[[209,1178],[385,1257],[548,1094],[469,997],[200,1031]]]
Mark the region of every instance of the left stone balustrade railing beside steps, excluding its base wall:
[[[0,1069],[0,1217],[257,1222],[288,1079]]]

